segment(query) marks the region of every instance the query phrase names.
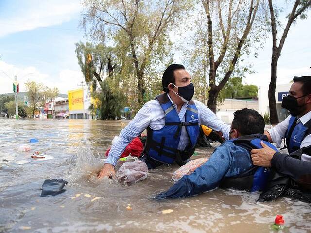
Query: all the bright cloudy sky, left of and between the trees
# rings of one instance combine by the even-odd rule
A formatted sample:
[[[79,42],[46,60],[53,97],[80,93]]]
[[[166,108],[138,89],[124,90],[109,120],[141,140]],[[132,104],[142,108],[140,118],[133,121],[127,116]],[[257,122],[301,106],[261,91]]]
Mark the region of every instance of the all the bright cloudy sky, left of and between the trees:
[[[0,71],[12,78],[17,75],[21,91],[27,79],[58,87],[61,93],[77,88],[83,78],[74,44],[86,41],[79,28],[81,10],[79,0],[0,0]],[[279,84],[288,83],[294,75],[311,75],[310,11],[308,15],[291,27],[279,59]],[[259,57],[245,58],[256,72],[245,83],[269,84],[271,41],[268,34]],[[175,62],[183,63],[180,53],[176,54]],[[0,93],[8,92],[12,92],[12,81],[0,74]]]

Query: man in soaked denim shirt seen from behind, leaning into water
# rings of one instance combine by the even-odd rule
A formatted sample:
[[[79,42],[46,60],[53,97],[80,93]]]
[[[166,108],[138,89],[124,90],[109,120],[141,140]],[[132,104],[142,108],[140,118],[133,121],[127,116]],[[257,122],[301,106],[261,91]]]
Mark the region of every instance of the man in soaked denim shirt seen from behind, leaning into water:
[[[261,141],[277,151],[263,134],[264,127],[264,119],[257,111],[247,108],[236,111],[230,140],[217,147],[206,163],[183,176],[157,198],[189,197],[218,186],[251,192],[263,190],[269,170],[254,166],[250,151],[261,148]]]

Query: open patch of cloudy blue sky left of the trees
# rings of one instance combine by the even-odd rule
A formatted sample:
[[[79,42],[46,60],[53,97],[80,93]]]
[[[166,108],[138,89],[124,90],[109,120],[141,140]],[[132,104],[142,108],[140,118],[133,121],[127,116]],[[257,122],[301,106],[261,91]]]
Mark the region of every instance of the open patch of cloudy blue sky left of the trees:
[[[62,93],[82,80],[75,43],[82,8],[77,0],[0,0],[0,71],[58,87]],[[32,75],[27,75],[33,73]],[[12,92],[11,80],[0,75],[0,93]]]

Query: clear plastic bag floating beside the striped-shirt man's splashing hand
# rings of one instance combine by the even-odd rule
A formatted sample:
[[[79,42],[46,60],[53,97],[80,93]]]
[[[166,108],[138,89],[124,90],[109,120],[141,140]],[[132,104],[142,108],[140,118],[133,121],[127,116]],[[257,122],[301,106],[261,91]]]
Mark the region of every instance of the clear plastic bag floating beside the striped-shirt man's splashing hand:
[[[134,162],[125,162],[117,171],[116,178],[118,183],[132,185],[136,182],[146,179],[148,167],[146,163],[140,160]]]

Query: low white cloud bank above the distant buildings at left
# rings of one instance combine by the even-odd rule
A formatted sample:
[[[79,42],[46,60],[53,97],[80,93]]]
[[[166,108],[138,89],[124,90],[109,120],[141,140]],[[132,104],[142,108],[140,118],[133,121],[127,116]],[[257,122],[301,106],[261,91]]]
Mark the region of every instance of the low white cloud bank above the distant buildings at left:
[[[37,68],[29,66],[18,68],[12,64],[0,61],[0,94],[13,93],[13,79],[17,75],[19,91],[26,91],[25,82],[28,80],[43,83],[50,88],[57,87],[62,94],[67,94],[68,90],[77,89],[78,84],[83,80],[81,71],[62,70],[57,77],[40,72]]]

